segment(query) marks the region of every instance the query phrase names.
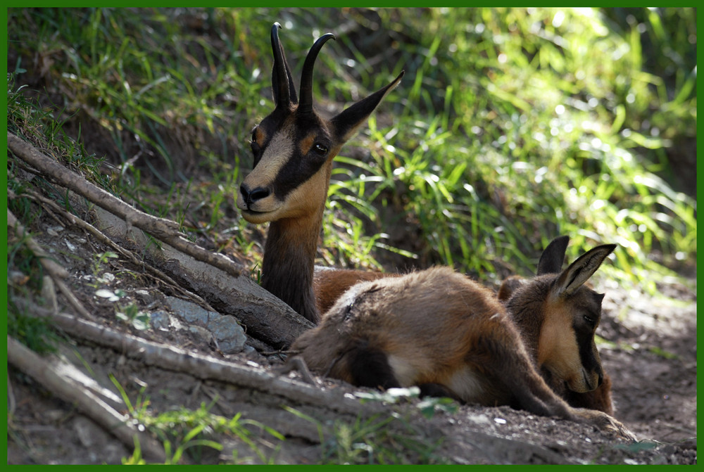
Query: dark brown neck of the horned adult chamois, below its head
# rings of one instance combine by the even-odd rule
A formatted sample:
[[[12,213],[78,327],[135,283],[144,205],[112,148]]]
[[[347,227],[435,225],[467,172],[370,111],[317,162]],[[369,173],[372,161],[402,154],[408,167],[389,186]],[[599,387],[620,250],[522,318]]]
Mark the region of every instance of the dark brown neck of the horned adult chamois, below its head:
[[[298,314],[317,324],[320,319],[313,293],[313,270],[322,209],[310,219],[272,222],[264,246],[262,286]]]

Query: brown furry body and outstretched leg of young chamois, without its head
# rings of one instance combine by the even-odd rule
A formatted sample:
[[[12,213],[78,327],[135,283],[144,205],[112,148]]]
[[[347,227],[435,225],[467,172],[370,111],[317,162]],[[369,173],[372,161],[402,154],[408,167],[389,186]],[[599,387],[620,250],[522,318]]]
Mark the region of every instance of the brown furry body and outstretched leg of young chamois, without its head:
[[[634,439],[603,412],[574,409],[536,370],[493,292],[448,267],[358,283],[291,351],[318,374],[375,388],[430,385]]]

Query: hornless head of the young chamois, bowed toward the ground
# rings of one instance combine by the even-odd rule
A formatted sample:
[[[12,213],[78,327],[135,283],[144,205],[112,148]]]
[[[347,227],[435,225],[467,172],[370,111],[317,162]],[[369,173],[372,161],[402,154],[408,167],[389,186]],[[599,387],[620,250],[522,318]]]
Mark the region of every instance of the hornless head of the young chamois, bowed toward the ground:
[[[584,283],[616,245],[597,246],[561,271],[569,241],[555,238],[540,257],[537,276],[522,283],[508,279],[500,293],[548,383],[583,393],[604,376],[594,343],[604,295]]]

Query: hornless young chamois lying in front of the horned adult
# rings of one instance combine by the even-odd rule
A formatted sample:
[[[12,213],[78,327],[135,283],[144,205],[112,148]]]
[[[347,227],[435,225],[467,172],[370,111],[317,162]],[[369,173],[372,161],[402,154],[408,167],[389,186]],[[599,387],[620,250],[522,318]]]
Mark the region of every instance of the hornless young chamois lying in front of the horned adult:
[[[610,415],[571,407],[539,374],[575,392],[603,381],[593,339],[603,295],[584,282],[614,248],[600,245],[558,274],[534,277],[505,304],[448,267],[358,283],[291,351],[312,371],[354,385],[417,385],[424,393],[508,404],[633,440]]]

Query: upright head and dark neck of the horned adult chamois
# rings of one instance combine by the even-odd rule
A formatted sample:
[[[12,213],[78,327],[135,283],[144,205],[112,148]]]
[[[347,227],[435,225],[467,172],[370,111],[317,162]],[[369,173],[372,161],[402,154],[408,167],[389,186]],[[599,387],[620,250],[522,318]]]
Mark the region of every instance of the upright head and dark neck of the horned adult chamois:
[[[313,64],[323,44],[334,35],[324,34],[308,51],[299,100],[279,43],[279,28],[275,23],[271,29],[276,105],[252,131],[254,168],[240,186],[237,208],[248,222],[271,222],[264,247],[262,286],[316,323],[320,315],[313,272],[332,160],[396,87],[403,72],[391,84],[327,120],[313,110]]]

